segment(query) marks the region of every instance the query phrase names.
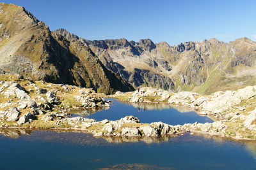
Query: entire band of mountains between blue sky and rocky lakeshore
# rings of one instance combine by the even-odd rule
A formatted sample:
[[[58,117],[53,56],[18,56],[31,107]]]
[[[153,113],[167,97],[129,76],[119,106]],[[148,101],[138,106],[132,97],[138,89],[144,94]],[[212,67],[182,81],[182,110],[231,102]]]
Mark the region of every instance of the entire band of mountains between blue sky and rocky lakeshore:
[[[177,46],[150,39],[90,41],[49,31],[21,6],[0,4],[0,72],[92,87],[99,92],[158,87],[211,94],[256,83],[256,43],[239,38]]]

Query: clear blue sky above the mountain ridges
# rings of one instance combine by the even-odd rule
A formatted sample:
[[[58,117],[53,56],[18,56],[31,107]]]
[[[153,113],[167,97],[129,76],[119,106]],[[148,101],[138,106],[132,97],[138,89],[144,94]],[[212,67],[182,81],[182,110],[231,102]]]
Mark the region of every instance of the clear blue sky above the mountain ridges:
[[[217,38],[256,40],[256,1],[246,0],[6,0],[49,25],[86,39],[150,38],[178,45]]]

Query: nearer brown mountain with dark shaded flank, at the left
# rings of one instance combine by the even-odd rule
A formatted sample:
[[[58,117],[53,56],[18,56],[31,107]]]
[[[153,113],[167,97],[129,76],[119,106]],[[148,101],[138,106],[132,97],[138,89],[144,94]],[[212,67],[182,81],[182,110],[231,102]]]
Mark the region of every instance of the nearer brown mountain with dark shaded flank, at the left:
[[[90,47],[54,34],[22,6],[0,3],[0,72],[92,87],[106,94],[133,87],[109,71]]]

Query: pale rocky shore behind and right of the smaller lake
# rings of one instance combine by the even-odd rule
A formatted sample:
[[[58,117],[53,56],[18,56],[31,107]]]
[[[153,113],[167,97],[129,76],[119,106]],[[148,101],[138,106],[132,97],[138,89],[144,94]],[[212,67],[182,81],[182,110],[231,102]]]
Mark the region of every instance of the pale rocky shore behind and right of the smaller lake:
[[[256,139],[256,86],[236,91],[219,91],[209,96],[195,92],[168,93],[161,89],[142,88],[140,92],[116,92],[112,97],[132,103],[168,101],[170,104],[193,108],[198,114],[215,120],[214,123],[180,125],[180,132]]]

